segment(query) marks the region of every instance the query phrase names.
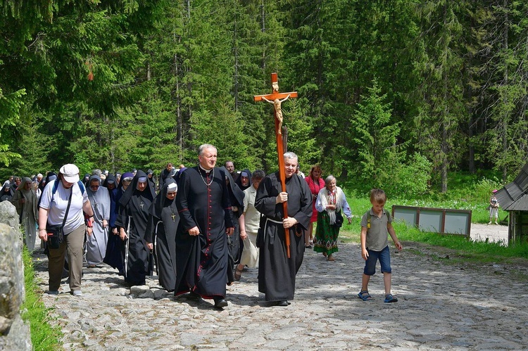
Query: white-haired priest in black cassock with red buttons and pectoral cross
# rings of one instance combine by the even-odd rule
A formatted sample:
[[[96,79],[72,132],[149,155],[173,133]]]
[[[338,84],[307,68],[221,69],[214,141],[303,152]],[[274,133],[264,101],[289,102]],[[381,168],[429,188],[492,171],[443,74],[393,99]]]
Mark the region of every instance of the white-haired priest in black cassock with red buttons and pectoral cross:
[[[216,168],[215,146],[199,148],[199,165],[182,173],[176,207],[175,295],[191,292],[212,298],[215,307],[227,306],[227,235],[233,233],[232,210],[225,173]]]

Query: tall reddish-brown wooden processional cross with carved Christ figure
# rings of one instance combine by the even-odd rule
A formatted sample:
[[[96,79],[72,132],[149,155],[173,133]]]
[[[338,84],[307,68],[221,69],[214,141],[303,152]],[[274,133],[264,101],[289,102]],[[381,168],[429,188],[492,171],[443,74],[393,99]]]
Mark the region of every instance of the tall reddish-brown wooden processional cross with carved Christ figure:
[[[277,73],[271,74],[271,94],[255,95],[254,101],[266,101],[273,104],[273,115],[275,116],[275,139],[277,140],[277,156],[279,158],[279,176],[282,192],[286,192],[286,174],[284,173],[284,146],[282,144],[282,108],[281,104],[288,98],[296,98],[297,91],[290,93],[279,93],[279,80]],[[282,203],[284,209],[284,218],[288,218],[288,205],[286,202]],[[286,243],[286,252],[289,255],[289,233],[284,233],[284,241]]]

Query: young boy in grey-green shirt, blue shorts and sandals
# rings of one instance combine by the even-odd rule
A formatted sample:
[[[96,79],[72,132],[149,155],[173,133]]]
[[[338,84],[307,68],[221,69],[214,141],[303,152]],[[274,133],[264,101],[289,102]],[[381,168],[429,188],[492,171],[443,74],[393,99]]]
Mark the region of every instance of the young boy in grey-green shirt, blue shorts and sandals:
[[[385,202],[385,192],[382,189],[372,189],[370,191],[372,208],[361,218],[361,257],[365,260],[365,269],[363,269],[361,291],[358,296],[363,301],[372,300],[372,296],[368,293],[368,282],[370,281],[370,276],[376,273],[377,260],[382,266],[383,282],[385,284],[384,302],[398,301],[391,294],[391,256],[387,233],[391,236],[398,250],[401,250],[403,246],[396,238],[389,211],[383,208]]]

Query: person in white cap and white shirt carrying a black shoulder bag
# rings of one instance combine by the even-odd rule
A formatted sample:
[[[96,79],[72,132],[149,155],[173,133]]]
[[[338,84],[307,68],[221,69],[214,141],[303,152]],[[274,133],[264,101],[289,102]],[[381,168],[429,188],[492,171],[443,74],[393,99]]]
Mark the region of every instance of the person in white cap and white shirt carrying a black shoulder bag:
[[[83,212],[89,217],[87,225]],[[68,253],[70,293],[82,295],[82,245],[84,232],[92,235],[93,216],[86,189],[79,182],[79,168],[73,164],[63,165],[56,181],[50,181],[42,191],[39,208],[39,238],[48,241],[49,234],[53,234],[48,242],[49,294],[58,295],[64,258]],[[62,233],[57,226],[62,226]]]

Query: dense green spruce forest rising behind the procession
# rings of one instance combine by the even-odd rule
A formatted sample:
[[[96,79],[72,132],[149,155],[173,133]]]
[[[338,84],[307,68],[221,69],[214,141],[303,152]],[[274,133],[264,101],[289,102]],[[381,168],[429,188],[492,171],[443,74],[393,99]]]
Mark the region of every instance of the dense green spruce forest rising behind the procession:
[[[0,176],[194,165],[414,194],[528,161],[528,1],[0,0]]]

